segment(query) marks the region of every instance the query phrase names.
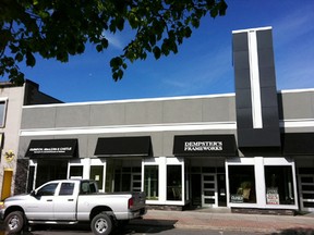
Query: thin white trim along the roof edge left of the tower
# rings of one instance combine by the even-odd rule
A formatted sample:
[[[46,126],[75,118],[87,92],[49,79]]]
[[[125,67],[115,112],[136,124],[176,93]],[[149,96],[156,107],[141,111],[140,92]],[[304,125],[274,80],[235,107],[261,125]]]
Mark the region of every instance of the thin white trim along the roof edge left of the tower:
[[[204,96],[182,96],[182,97],[161,97],[161,98],[146,98],[146,99],[125,99],[125,100],[109,100],[109,101],[90,101],[90,102],[70,102],[70,103],[50,103],[50,104],[34,104],[23,106],[23,109],[48,108],[48,107],[71,107],[71,106],[88,106],[88,104],[112,104],[112,103],[130,103],[130,102],[154,102],[154,101],[171,101],[171,100],[192,100],[204,98],[222,98],[234,97],[234,92],[204,95]]]

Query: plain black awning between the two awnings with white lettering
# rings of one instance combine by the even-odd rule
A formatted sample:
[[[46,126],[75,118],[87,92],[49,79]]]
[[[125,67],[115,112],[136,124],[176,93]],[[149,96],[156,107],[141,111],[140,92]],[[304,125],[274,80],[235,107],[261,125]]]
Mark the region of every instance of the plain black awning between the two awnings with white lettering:
[[[98,138],[97,157],[148,157],[152,156],[150,136]]]

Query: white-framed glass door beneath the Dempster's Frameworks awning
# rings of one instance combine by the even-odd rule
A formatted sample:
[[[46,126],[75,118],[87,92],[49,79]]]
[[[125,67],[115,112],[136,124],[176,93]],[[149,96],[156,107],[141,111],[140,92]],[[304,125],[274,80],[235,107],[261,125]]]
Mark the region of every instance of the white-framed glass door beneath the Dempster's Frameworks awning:
[[[202,207],[218,207],[216,174],[202,174]]]

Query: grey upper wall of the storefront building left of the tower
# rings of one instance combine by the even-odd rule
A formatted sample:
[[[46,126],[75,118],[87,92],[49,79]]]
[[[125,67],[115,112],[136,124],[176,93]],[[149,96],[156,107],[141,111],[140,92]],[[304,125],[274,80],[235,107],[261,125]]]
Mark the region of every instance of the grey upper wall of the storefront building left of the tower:
[[[21,136],[20,152],[21,156],[25,154],[32,139],[77,138],[78,156],[93,157],[99,137],[148,135],[152,137],[154,156],[173,156],[174,135],[235,134],[235,129],[180,129],[181,126],[200,123],[235,124],[234,102],[234,95],[222,95],[24,107],[21,128],[34,132],[34,136]],[[179,127],[158,131],[168,126]],[[136,131],[137,127],[141,131]],[[112,132],[75,134],[82,128],[112,128]],[[123,128],[134,131],[123,132]],[[62,135],[58,132],[56,135],[53,132],[49,134],[49,131],[61,131]]]

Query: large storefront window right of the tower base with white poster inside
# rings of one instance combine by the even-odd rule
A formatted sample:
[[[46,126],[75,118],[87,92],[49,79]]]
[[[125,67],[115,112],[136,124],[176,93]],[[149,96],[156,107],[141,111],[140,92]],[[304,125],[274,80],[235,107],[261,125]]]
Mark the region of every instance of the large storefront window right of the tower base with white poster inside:
[[[265,166],[266,203],[294,205],[292,169]]]

